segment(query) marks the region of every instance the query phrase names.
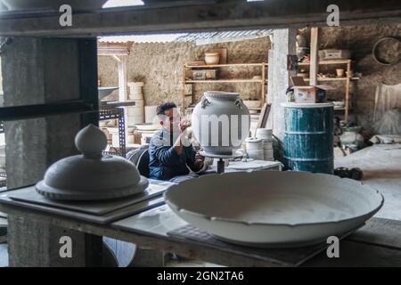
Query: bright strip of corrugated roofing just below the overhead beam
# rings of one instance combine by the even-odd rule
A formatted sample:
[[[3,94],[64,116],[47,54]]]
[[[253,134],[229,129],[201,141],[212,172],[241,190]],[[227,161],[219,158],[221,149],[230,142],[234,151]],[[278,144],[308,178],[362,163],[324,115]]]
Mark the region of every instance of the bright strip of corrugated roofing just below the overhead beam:
[[[185,43],[195,42],[196,45],[207,45],[218,42],[241,41],[251,38],[267,37],[271,35],[271,29],[235,30],[204,33],[181,33],[181,34],[160,34],[160,35],[135,35],[101,37],[102,43]]]

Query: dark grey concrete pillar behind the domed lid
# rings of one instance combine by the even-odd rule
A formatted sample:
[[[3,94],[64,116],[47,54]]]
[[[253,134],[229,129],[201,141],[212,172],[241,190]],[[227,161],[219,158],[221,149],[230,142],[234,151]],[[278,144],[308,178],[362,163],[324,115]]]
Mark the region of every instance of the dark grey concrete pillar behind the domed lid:
[[[13,38],[2,53],[4,106],[79,99],[80,58],[76,39]],[[80,126],[78,114],[6,122],[8,188],[37,183],[54,161],[77,153]]]

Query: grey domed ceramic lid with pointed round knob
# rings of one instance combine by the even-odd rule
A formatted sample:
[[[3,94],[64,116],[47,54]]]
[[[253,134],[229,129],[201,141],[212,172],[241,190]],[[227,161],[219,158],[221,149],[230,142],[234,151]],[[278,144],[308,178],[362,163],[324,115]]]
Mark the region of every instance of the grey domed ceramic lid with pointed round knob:
[[[78,132],[75,145],[81,155],[55,162],[37,183],[37,192],[50,199],[97,200],[134,195],[144,191],[148,180],[127,159],[103,155],[107,138],[89,125]]]

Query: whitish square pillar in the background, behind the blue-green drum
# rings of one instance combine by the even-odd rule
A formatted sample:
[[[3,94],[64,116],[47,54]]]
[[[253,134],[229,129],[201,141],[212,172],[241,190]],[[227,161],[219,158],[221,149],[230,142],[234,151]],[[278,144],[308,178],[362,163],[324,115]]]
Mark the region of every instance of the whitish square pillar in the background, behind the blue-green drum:
[[[296,54],[296,28],[274,29],[272,48],[269,51],[268,66],[268,102],[272,110],[267,122],[273,128],[273,134],[282,141],[284,137],[284,109],[282,102],[286,102],[285,91],[290,85],[290,77],[295,71],[287,69],[287,55]]]

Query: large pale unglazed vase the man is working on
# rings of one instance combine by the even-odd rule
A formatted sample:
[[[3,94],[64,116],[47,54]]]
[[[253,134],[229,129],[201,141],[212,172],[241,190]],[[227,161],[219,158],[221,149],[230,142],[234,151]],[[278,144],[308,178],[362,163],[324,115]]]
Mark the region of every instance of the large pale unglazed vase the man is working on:
[[[207,154],[231,155],[250,133],[250,110],[240,94],[208,91],[193,109],[192,130]]]

